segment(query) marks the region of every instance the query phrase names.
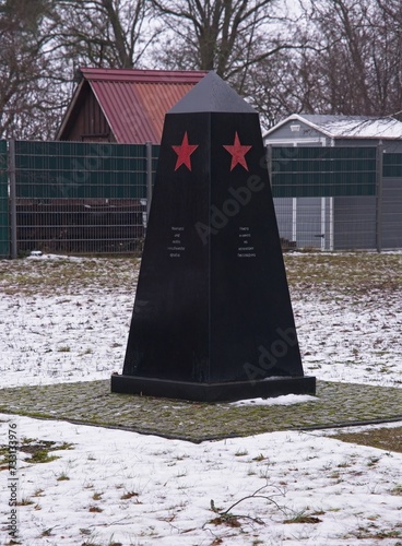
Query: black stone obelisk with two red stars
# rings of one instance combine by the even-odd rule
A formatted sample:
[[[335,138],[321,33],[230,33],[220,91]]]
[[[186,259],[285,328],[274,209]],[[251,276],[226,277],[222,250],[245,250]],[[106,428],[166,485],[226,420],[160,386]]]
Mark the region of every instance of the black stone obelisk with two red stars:
[[[209,402],[315,390],[303,372],[259,117],[210,72],[165,118],[111,391]]]

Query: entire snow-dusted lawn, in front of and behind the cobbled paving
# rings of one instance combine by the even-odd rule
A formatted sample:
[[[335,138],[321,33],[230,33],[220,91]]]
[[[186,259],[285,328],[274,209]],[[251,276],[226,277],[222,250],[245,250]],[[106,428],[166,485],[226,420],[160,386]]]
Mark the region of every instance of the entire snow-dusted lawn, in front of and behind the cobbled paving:
[[[371,260],[373,281],[364,271],[356,281],[351,265],[338,286],[329,271],[339,258],[311,257],[315,273],[303,280],[298,261],[306,269],[306,257],[286,259],[306,373],[402,385],[402,254],[367,256],[359,264],[369,269]],[[121,371],[137,274],[123,259],[0,261],[1,385]],[[348,274],[350,284],[342,276]],[[297,412],[296,399],[283,402]],[[0,419],[0,444],[11,449],[0,451],[4,545],[14,509],[24,546],[402,544],[402,453],[344,443],[329,431],[192,444]],[[15,476],[7,461],[14,432],[26,450],[17,450]],[[58,459],[29,461],[38,441],[57,442],[43,444],[43,453]],[[17,507],[9,506],[14,483]]]

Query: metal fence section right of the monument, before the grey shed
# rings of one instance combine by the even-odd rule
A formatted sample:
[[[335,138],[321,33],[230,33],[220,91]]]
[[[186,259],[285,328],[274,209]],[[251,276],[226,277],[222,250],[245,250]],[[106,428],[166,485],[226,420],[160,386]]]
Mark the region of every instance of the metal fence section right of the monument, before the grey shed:
[[[402,248],[402,154],[272,147],[269,168],[284,247]]]

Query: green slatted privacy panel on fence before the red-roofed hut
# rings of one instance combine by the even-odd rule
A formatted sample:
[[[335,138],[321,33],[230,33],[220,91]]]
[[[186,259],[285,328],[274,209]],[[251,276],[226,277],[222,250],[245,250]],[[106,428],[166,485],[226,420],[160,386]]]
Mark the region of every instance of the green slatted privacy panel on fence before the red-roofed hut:
[[[146,198],[145,145],[17,141],[15,168],[17,198]]]

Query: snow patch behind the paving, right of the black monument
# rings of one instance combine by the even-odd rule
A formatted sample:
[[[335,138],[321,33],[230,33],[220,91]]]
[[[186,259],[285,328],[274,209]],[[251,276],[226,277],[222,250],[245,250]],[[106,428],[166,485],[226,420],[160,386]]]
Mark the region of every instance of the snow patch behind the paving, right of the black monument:
[[[402,383],[402,301],[374,293],[293,301],[305,370],[327,381]]]

